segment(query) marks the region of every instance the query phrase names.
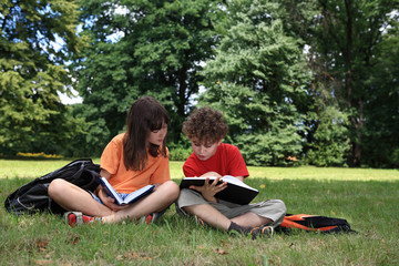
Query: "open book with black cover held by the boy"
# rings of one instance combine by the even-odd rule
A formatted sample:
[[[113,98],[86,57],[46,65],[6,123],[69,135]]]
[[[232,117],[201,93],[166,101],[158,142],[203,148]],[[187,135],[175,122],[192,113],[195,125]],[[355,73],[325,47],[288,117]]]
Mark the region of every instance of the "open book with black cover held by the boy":
[[[207,177],[185,177],[182,180],[180,187],[188,188],[191,185],[202,186],[204,185]],[[213,183],[216,177],[208,177],[209,183]],[[218,193],[216,193],[215,197],[237,203],[237,204],[248,204],[256,197],[259,193],[254,187],[248,186],[244,182],[237,180],[234,176],[225,175],[219,180],[219,184],[222,182],[227,182],[227,187]]]

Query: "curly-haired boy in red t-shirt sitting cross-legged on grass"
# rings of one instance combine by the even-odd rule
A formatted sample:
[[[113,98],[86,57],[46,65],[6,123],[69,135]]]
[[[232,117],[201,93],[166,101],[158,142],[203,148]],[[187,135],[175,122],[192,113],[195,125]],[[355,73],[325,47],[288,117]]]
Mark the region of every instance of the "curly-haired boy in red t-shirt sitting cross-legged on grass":
[[[190,139],[193,149],[183,165],[184,175],[218,178],[212,184],[205,182],[203,186],[183,188],[176,202],[177,212],[194,215],[201,223],[228,233],[250,234],[253,239],[260,235],[272,236],[273,228],[286,214],[282,201],[238,205],[215,197],[227,186],[227,183],[216,185],[219,177],[232,175],[244,182],[249,175],[238,149],[222,143],[227,130],[222,113],[209,108],[195,110],[184,122],[183,134]]]

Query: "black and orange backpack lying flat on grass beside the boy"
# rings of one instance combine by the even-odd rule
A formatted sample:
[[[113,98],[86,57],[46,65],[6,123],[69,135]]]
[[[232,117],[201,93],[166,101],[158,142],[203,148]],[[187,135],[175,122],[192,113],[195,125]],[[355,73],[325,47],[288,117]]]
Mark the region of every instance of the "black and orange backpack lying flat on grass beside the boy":
[[[276,232],[286,234],[291,233],[293,229],[321,234],[356,233],[346,219],[309,214],[287,214],[283,223],[276,227]]]

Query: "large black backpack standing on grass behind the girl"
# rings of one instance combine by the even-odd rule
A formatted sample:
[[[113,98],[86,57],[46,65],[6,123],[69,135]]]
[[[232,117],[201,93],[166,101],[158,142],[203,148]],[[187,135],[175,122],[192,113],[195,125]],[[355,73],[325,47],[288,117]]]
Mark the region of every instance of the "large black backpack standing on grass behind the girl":
[[[38,212],[64,213],[65,211],[48,194],[49,184],[55,178],[63,178],[93,192],[100,184],[100,165],[94,164],[91,158],[81,158],[38,177],[8,195],[4,202],[6,209],[17,215]]]

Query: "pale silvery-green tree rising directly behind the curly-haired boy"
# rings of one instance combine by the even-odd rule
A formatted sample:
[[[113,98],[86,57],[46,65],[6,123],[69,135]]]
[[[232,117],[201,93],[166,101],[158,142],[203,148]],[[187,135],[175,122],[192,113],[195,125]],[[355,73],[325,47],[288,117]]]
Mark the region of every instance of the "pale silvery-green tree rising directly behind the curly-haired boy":
[[[223,111],[227,141],[241,146],[248,164],[285,164],[300,154],[306,120],[299,109],[308,101],[308,74],[299,43],[285,34],[277,4],[231,1],[226,12],[226,33],[215,59],[206,61],[200,103]]]

